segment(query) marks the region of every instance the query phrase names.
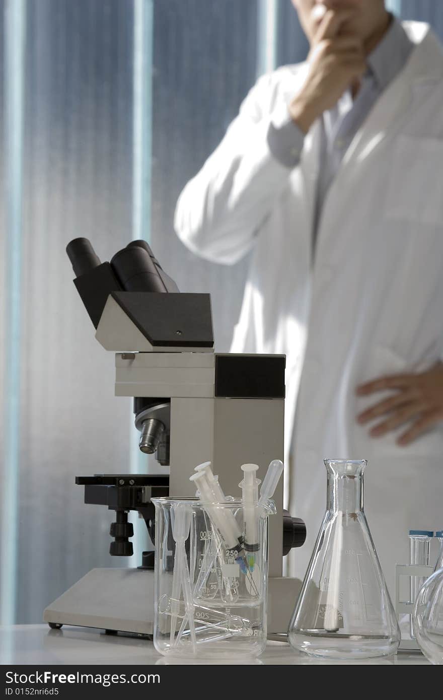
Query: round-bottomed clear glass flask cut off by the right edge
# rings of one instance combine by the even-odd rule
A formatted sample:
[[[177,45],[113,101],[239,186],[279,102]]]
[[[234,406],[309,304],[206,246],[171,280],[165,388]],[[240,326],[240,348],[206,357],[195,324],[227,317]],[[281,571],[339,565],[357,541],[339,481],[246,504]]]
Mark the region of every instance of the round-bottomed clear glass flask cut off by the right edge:
[[[412,613],[414,636],[431,664],[443,664],[443,568],[423,584]]]

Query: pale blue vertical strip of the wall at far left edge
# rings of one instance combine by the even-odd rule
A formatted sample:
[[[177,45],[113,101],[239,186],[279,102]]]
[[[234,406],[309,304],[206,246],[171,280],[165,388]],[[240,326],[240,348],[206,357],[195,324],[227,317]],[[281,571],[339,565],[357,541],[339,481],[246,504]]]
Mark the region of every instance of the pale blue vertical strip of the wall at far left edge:
[[[2,420],[0,510],[0,620],[14,621],[18,489],[18,423],[20,412],[20,241],[22,229],[22,134],[24,3],[3,3],[3,176],[1,308]],[[3,257],[4,256],[4,257]]]

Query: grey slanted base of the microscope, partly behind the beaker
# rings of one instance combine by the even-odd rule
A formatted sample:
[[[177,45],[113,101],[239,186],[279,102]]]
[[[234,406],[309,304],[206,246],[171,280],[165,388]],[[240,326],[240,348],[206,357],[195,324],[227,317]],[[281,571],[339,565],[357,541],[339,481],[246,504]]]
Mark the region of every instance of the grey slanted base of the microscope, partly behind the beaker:
[[[294,578],[269,579],[268,631],[286,633],[300,593]],[[154,572],[95,568],[48,605],[43,622],[153,634]]]

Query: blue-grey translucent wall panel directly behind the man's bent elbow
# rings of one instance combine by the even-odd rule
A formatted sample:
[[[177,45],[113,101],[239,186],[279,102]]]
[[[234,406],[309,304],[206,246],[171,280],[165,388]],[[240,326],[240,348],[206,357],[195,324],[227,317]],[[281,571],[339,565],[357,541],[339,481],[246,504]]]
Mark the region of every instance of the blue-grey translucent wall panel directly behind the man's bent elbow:
[[[255,82],[257,20],[255,0],[154,3],[153,249],[182,291],[211,293],[218,350],[229,349],[247,263],[190,253],[174,233],[174,208]]]

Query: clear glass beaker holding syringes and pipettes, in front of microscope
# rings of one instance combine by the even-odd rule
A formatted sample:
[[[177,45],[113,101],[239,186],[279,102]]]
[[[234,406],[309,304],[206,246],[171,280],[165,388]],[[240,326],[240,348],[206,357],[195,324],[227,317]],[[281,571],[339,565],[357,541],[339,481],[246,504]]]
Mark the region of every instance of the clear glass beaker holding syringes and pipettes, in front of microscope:
[[[224,518],[234,517],[244,532],[241,500],[152,500],[157,651],[206,658],[261,654],[267,636],[267,517],[274,503],[257,504],[258,542],[255,551],[246,552],[241,541],[224,542],[219,528]],[[176,508],[183,505],[190,511],[184,546],[173,533]]]

